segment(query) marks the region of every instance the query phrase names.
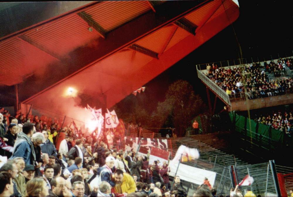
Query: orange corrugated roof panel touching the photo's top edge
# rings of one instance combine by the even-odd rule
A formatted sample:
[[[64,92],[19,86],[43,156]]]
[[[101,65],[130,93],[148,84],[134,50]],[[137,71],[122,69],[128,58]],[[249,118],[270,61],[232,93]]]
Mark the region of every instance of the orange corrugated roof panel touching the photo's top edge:
[[[147,1],[105,1],[85,13],[108,32],[149,10]]]

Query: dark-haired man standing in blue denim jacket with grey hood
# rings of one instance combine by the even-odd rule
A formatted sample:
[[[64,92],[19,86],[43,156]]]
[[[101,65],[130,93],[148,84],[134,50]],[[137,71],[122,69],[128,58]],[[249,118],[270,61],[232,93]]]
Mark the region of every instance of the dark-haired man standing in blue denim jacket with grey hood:
[[[34,165],[34,161],[36,161],[36,155],[34,151],[34,145],[30,140],[30,137],[32,137],[33,133],[35,132],[35,126],[33,123],[24,123],[22,129],[23,132],[17,135],[12,158],[23,157],[26,164]]]

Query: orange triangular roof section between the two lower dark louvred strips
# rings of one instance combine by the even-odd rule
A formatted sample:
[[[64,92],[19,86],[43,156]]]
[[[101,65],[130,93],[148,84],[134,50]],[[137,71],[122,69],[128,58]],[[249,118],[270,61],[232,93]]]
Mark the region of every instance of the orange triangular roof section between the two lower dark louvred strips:
[[[135,44],[150,49],[154,52],[160,53],[173,30],[174,25],[160,28],[150,35],[147,35],[146,37],[138,40]]]

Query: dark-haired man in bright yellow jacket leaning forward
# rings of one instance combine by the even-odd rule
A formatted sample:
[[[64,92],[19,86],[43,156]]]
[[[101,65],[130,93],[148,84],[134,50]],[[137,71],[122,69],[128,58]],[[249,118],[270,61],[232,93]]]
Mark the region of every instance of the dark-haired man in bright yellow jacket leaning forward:
[[[113,176],[115,187],[114,193],[122,193],[126,196],[130,193],[135,192],[136,184],[132,176],[124,173],[121,169],[117,169]]]

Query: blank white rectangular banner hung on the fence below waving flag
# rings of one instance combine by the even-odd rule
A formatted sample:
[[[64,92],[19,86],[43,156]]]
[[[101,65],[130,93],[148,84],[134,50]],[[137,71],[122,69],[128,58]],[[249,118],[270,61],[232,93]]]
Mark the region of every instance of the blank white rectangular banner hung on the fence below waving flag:
[[[178,163],[174,163],[170,161],[169,167],[171,171],[169,172],[169,176],[175,176]],[[203,184],[203,181],[205,180],[205,178],[207,178],[209,179],[209,183],[213,187],[217,173],[200,169],[200,168],[191,167],[191,166],[180,163],[178,167],[177,175],[180,176],[180,179],[184,181],[188,181],[198,185]]]

